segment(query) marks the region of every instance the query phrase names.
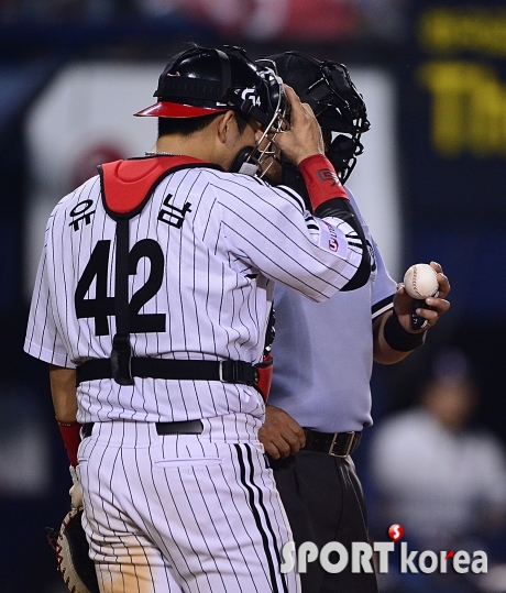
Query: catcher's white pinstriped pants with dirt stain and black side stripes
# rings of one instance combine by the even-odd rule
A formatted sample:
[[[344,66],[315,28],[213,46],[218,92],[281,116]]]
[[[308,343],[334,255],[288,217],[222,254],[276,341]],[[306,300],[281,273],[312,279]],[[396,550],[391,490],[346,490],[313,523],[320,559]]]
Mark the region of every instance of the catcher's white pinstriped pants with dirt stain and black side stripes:
[[[293,537],[254,422],[226,420],[233,432],[216,418],[179,436],[98,422],[82,440],[82,524],[103,593],[300,591],[279,571]]]

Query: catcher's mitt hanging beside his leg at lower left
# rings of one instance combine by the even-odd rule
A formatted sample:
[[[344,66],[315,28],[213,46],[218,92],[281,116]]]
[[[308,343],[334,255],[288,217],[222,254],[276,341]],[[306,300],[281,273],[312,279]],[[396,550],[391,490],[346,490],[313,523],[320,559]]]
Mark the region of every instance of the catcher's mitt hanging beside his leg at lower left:
[[[72,593],[100,593],[94,561],[81,525],[82,507],[65,516],[59,531],[50,528],[47,541],[56,553],[57,569]]]

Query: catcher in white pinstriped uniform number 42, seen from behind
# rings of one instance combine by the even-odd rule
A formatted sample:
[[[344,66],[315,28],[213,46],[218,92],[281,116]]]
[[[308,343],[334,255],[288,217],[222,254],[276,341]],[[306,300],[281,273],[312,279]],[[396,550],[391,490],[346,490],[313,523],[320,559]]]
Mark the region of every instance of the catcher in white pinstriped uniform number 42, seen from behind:
[[[178,54],[155,96],[155,150],[55,207],[25,350],[51,365],[103,593],[298,591],[258,363],[274,282],[317,301],[364,284],[363,231],[311,110],[243,51]],[[315,217],[251,176],[277,147]]]

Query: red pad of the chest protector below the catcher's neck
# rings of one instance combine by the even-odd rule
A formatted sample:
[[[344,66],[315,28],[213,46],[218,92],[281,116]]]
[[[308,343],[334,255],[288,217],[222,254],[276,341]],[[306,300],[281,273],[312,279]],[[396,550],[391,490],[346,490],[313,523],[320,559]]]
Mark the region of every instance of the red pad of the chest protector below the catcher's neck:
[[[164,177],[180,168],[198,166],[217,168],[217,165],[191,156],[131,158],[100,165],[98,171],[106,210],[112,216],[134,216]]]

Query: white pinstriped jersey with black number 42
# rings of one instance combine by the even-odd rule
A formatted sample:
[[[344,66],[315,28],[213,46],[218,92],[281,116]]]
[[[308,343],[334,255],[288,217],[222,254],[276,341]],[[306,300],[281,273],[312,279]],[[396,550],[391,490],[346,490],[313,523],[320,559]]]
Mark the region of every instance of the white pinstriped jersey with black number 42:
[[[355,273],[362,249],[340,219],[302,213],[286,188],[213,168],[165,177],[130,220],[130,321],[135,356],[258,362],[274,282],[322,301]],[[59,366],[109,358],[116,318],[116,222],[94,177],[50,218],[25,350]],[[206,381],[113,380],[78,387],[78,420],[263,417],[253,387]],[[168,395],[167,395],[168,394]]]

